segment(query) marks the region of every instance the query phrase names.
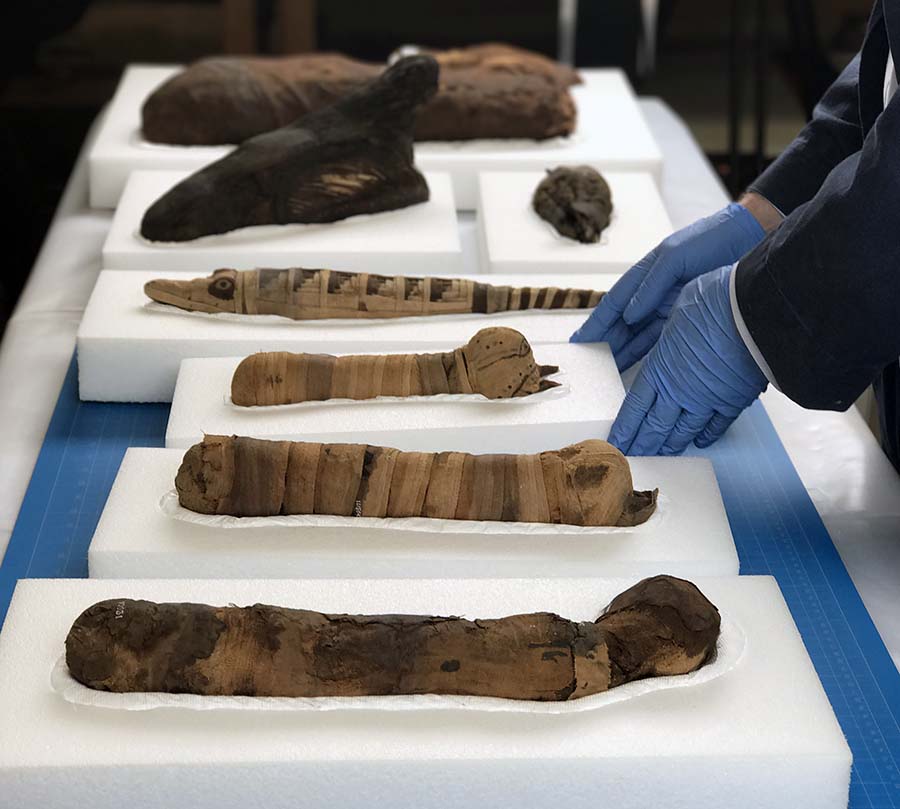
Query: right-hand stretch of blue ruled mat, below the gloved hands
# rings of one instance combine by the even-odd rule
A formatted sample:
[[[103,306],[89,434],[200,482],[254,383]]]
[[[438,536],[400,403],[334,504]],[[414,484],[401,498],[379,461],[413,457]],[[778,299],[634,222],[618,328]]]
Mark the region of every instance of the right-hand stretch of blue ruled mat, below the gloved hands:
[[[900,807],[900,674],[762,403],[707,450],[741,563],[774,576],[853,751],[852,809]]]

